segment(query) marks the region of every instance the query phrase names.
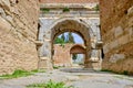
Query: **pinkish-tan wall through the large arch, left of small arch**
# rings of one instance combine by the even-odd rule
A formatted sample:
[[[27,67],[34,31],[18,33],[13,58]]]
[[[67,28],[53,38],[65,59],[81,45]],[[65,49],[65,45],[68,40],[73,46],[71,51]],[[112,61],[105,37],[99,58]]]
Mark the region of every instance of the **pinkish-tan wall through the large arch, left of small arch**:
[[[53,63],[55,66],[72,66],[70,50],[73,44],[54,44]]]

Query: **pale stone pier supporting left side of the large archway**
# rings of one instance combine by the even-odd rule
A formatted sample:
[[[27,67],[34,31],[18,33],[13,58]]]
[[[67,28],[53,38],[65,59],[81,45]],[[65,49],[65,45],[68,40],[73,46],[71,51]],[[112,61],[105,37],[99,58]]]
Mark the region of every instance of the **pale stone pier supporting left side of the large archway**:
[[[51,31],[48,29],[48,26],[50,26],[48,21],[49,20],[40,18],[41,28],[39,32],[39,41],[43,42],[43,44],[39,48],[39,69],[52,69]]]

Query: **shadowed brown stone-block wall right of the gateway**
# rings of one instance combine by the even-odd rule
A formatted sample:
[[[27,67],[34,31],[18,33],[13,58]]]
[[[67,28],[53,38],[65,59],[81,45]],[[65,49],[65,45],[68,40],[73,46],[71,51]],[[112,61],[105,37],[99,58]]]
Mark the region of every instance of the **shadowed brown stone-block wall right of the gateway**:
[[[103,69],[133,74],[133,0],[100,0]]]

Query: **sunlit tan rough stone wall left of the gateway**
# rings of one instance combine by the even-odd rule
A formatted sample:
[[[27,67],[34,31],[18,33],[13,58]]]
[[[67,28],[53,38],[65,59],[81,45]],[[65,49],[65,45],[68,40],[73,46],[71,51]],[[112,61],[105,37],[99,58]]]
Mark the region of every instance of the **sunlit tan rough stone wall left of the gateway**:
[[[0,0],[0,74],[37,69],[38,0]]]

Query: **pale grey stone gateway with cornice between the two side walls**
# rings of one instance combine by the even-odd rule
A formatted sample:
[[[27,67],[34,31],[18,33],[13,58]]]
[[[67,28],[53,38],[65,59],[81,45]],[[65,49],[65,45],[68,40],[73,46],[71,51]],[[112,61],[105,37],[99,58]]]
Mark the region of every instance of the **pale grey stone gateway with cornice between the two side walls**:
[[[85,67],[94,68],[90,59],[92,47],[94,46],[92,40],[95,40],[95,43],[101,41],[99,11],[92,10],[96,4],[88,3],[88,7],[76,3],[62,3],[62,6],[58,3],[41,4],[38,37],[40,68],[52,68],[54,38],[64,32],[74,32],[82,36],[86,47],[84,65]],[[94,63],[94,65],[98,63]]]

